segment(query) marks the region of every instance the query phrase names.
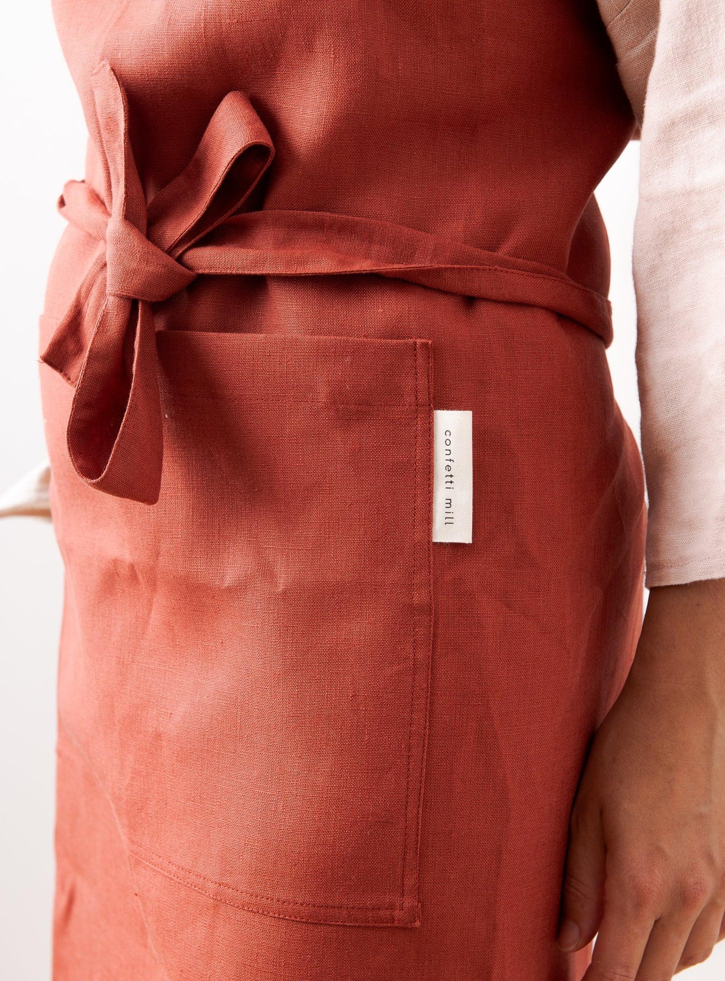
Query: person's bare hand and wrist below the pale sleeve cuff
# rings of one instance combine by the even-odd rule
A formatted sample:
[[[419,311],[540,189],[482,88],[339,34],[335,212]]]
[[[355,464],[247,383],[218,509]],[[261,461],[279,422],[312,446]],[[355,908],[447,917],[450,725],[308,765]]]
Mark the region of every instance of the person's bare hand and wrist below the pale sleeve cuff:
[[[653,589],[572,810],[559,946],[584,981],[667,981],[725,916],[725,580]]]

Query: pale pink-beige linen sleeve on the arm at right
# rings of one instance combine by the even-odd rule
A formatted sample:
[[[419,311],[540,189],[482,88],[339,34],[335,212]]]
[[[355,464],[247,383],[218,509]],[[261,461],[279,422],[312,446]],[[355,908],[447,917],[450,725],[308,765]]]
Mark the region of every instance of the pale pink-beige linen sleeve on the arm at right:
[[[725,0],[659,6],[600,0],[641,121],[648,587],[725,577]]]

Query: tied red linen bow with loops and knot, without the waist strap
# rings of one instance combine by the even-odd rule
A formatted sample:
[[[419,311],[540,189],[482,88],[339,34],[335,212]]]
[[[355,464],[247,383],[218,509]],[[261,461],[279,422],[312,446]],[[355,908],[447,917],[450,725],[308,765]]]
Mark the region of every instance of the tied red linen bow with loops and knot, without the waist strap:
[[[153,504],[163,463],[151,303],[197,275],[184,252],[238,211],[274,155],[242,92],[220,102],[186,169],[146,202],[129,140],[126,94],[108,62],[91,76],[89,129],[104,177],[101,198],[69,181],[61,214],[98,248],[41,355],[75,387],[68,450],[86,484]]]

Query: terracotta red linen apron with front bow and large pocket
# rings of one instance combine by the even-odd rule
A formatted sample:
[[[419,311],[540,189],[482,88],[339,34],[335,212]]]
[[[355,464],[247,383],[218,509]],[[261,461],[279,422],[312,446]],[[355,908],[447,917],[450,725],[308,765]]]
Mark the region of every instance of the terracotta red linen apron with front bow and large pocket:
[[[55,0],[56,981],[565,981],[644,502],[591,0]],[[432,542],[434,409],[472,543]]]

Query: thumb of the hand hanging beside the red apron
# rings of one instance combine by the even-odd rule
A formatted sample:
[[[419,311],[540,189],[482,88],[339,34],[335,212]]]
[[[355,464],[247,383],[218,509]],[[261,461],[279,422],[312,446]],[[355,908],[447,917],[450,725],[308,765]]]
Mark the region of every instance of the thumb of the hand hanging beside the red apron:
[[[557,943],[579,951],[593,940],[604,909],[606,849],[598,806],[577,800],[572,811]]]

